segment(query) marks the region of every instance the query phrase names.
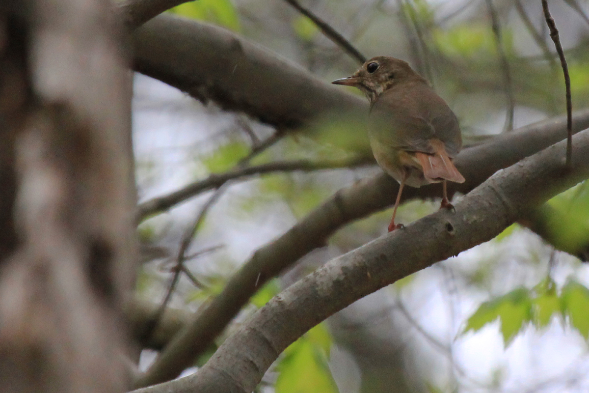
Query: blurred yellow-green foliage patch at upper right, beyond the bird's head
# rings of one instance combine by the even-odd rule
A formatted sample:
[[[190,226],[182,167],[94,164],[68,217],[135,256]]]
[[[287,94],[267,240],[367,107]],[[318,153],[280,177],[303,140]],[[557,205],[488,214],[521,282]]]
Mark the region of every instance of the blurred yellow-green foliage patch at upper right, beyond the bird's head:
[[[436,46],[446,55],[461,59],[487,60],[497,58],[497,44],[488,24],[473,23],[456,25],[450,29],[436,29],[433,34]],[[510,29],[501,31],[505,53],[513,48]]]

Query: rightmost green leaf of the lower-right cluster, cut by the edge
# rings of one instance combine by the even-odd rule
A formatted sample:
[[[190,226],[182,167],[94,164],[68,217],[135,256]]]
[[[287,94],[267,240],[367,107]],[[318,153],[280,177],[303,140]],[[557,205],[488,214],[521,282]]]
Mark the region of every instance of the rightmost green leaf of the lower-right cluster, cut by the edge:
[[[562,288],[561,306],[573,328],[589,339],[589,289],[573,280]]]

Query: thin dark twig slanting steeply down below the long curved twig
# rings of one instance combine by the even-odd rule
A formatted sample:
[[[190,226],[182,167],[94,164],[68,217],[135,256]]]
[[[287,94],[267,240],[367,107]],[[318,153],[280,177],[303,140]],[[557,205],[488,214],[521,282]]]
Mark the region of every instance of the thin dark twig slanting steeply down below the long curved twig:
[[[149,339],[151,337],[151,335],[153,334],[153,332],[155,331],[155,329],[159,325],[159,323],[161,321],[161,316],[164,315],[164,312],[166,311],[166,309],[168,307],[168,303],[170,303],[170,299],[171,299],[172,295],[174,294],[174,291],[176,290],[176,286],[178,285],[178,281],[180,280],[180,273],[181,272],[186,273],[187,269],[184,269],[184,260],[186,260],[186,257],[185,257],[186,251],[188,250],[188,247],[190,247],[192,240],[194,239],[194,235],[197,232],[200,224],[203,222],[204,217],[206,216],[207,212],[209,212],[209,209],[211,208],[211,206],[213,206],[213,204],[215,202],[217,202],[217,200],[219,199],[221,194],[223,194],[223,192],[225,191],[225,188],[226,187],[219,187],[219,189],[217,189],[213,193],[213,195],[209,198],[209,200],[207,200],[207,202],[203,205],[203,207],[201,207],[200,212],[198,213],[198,216],[194,220],[193,224],[184,233],[184,236],[182,237],[182,240],[180,242],[180,247],[178,249],[178,253],[176,256],[176,266],[174,266],[174,269],[173,269],[174,276],[170,281],[170,285],[168,285],[166,297],[164,298],[163,302],[161,302],[160,307],[157,309],[157,311],[155,311],[154,315],[150,318],[148,323],[145,324],[145,329],[144,329],[143,333],[141,334],[141,339],[140,339],[141,342],[147,341],[147,339]],[[188,278],[190,278],[191,280],[192,280],[192,278],[194,278],[194,280],[196,280],[196,278],[191,274],[188,275]],[[194,282],[195,281],[193,281],[193,283]],[[195,285],[197,285],[199,287],[202,285],[200,282],[198,282],[198,280],[196,280],[196,282],[198,283],[198,285],[197,284],[195,284]]]

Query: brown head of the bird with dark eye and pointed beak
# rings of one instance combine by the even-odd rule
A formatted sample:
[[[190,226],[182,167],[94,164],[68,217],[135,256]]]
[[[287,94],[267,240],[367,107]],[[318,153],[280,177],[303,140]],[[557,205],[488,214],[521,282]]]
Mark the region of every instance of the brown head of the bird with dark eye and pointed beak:
[[[411,80],[425,82],[406,61],[379,56],[366,61],[351,77],[341,78],[332,83],[359,88],[373,104],[384,91]]]

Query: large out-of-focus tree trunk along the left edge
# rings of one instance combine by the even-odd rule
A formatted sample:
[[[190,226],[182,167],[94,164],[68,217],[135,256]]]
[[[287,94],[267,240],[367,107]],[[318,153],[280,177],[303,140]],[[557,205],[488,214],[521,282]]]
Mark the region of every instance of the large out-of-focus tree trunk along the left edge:
[[[129,385],[131,84],[109,8],[0,4],[0,392]]]

